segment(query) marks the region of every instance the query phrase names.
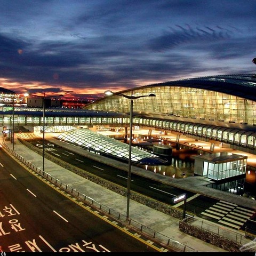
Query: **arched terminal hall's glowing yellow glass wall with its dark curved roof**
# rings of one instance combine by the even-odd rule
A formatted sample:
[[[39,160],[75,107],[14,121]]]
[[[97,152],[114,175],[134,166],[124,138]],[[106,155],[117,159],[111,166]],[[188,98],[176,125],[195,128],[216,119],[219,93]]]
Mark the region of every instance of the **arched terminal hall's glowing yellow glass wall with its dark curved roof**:
[[[245,94],[246,90],[254,90],[255,76],[222,77],[222,79],[212,77],[187,79],[176,83],[137,87],[132,89],[134,97],[150,93],[154,93],[156,97],[143,97],[134,100],[133,111],[256,124],[256,98],[249,95],[249,98],[252,99],[248,99],[248,95]],[[228,89],[228,86],[233,86],[234,90]],[[244,93],[242,93],[243,90]],[[131,90],[122,92],[122,94],[131,96]],[[86,109],[129,113],[130,100],[122,95],[114,94],[91,103]]]

